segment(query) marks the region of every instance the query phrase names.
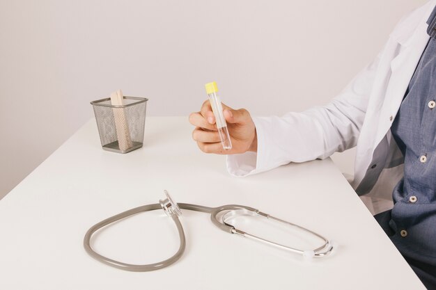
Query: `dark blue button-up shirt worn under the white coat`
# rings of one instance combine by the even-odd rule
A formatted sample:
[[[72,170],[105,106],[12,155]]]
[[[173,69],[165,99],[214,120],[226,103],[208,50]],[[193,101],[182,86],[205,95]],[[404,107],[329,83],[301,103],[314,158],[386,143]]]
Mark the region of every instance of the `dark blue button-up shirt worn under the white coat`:
[[[430,40],[391,132],[405,157],[394,188],[390,238],[428,289],[436,289],[436,8]]]

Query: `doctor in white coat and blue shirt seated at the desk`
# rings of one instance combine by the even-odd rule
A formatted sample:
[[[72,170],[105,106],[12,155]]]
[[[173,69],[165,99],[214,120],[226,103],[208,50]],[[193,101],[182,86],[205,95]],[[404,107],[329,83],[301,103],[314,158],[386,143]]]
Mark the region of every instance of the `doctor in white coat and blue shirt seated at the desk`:
[[[203,152],[243,177],[357,145],[352,186],[428,289],[436,289],[436,0],[414,10],[327,106],[251,118],[224,106],[224,152],[206,101],[189,121]],[[310,132],[310,134],[308,134]]]

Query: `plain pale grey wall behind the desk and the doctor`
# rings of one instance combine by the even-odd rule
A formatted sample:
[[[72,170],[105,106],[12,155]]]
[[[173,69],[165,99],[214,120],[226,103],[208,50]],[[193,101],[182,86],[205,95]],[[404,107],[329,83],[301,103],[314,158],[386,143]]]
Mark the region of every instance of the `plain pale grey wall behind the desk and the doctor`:
[[[0,1],[0,198],[117,88],[149,115],[197,111],[213,80],[254,115],[325,104],[424,2]]]

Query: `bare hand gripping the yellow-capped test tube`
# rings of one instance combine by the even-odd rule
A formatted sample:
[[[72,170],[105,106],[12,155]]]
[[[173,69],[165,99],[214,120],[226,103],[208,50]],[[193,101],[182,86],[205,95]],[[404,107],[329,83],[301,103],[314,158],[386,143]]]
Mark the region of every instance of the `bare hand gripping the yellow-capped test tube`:
[[[232,149],[223,149],[218,135],[217,124],[215,123],[215,116],[210,102],[207,100],[201,106],[201,111],[189,115],[189,122],[196,127],[192,132],[192,138],[196,140],[200,150],[205,153],[215,154],[257,152],[256,127],[250,113],[244,108],[233,110],[233,108],[224,104],[222,106],[232,142]]]

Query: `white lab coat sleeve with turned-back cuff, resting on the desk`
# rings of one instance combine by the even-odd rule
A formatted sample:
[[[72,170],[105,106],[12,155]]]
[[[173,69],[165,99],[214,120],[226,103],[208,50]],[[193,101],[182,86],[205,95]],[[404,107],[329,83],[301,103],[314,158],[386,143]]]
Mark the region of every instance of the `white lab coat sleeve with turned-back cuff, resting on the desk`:
[[[228,155],[228,172],[244,177],[290,162],[325,159],[334,152],[354,147],[381,54],[326,106],[283,117],[253,118],[258,151]]]

